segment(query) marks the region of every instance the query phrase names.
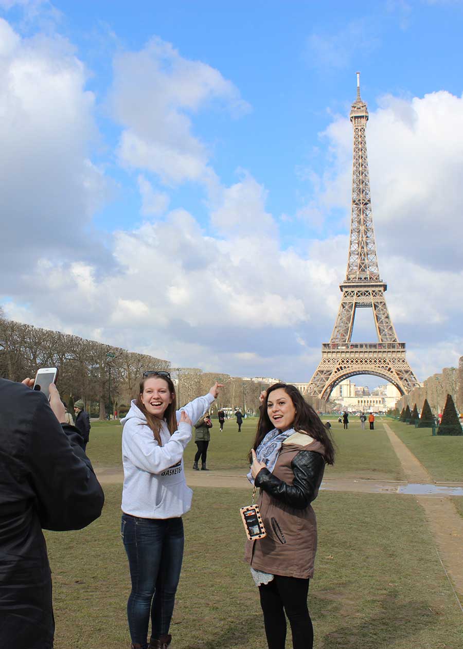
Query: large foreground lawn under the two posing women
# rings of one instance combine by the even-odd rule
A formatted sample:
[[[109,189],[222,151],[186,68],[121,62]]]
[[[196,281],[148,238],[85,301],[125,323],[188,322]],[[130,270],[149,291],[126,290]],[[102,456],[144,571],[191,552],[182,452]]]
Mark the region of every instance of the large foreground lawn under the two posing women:
[[[93,429],[92,429],[93,430]],[[101,519],[47,532],[55,649],[129,646],[121,487],[106,487]],[[194,490],[171,633],[175,649],[264,648],[258,593],[242,562],[241,490]],[[321,493],[309,608],[317,649],[457,649],[462,617],[423,513],[407,496]],[[290,646],[288,638],[287,647]]]

